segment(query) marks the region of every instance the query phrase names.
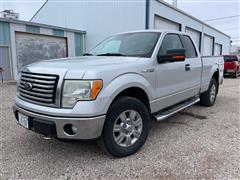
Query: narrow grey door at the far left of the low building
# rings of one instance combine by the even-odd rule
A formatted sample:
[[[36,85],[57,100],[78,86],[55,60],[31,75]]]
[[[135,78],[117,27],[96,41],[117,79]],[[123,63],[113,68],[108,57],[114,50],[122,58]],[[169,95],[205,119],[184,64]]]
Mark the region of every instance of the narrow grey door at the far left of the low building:
[[[3,46],[0,47],[0,67],[3,69],[3,72],[2,72],[3,80],[4,81],[11,80],[9,47],[3,47]],[[0,80],[1,78],[2,77],[0,77]]]

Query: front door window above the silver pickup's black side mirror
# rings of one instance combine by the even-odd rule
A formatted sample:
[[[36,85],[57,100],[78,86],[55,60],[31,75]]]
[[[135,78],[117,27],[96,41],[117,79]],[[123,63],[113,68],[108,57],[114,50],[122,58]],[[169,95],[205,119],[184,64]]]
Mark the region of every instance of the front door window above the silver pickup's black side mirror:
[[[177,34],[167,34],[161,44],[158,54],[165,55],[170,49],[182,49],[183,45]]]

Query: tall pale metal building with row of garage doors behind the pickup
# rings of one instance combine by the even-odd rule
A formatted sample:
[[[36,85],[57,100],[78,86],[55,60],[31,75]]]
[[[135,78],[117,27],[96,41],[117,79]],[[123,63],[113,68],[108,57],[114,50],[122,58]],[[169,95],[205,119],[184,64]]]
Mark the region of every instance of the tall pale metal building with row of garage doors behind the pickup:
[[[190,33],[204,56],[230,51],[228,35],[160,0],[48,0],[31,21],[83,28],[87,49],[114,33],[171,29]]]

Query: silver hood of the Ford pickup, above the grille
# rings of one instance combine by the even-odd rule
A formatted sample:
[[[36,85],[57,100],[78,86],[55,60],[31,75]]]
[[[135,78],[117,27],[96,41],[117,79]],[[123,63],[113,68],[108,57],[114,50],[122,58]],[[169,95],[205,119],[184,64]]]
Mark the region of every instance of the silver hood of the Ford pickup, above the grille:
[[[116,57],[116,56],[81,56],[75,58],[62,58],[53,60],[44,60],[30,64],[24,68],[24,71],[49,74],[71,74],[71,77],[83,78],[87,70],[107,70],[119,66],[137,62],[137,57]],[[61,73],[60,73],[61,72]]]

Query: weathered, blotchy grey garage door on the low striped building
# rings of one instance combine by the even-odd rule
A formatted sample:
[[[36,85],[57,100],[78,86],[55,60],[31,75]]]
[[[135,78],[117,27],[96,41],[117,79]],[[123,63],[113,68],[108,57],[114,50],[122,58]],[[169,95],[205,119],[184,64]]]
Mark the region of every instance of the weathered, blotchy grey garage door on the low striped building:
[[[25,65],[40,60],[67,57],[67,40],[64,37],[16,33],[18,71]]]

